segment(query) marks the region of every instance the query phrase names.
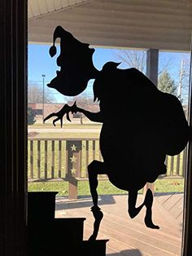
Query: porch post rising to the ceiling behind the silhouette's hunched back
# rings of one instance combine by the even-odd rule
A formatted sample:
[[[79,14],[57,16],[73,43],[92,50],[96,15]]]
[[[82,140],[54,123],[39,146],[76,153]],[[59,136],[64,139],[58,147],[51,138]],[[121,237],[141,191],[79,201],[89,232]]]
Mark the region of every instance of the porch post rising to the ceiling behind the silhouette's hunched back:
[[[149,49],[146,52],[146,76],[157,86],[158,83],[158,60],[159,60],[159,49]],[[150,188],[154,194],[155,184],[146,183],[143,188],[143,196],[146,195],[147,189]]]

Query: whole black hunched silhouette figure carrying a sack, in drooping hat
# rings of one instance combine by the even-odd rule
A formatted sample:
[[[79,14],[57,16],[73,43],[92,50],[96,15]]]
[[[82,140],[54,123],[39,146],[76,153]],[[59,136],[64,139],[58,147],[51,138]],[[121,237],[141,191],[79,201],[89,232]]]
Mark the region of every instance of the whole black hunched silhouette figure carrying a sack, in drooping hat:
[[[73,38],[71,33],[57,27],[54,46],[50,55],[56,53],[55,40],[60,38],[60,55],[57,64],[61,70],[48,86],[63,95],[78,95],[94,78],[94,100],[99,101],[100,112],[90,113],[78,108],[76,102],[67,104],[53,121],[61,121],[63,115],[81,112],[91,121],[103,123],[100,134],[102,161],[92,161],[88,166],[89,188],[93,198],[94,232],[98,235],[103,213],[98,207],[98,174],[107,174],[117,188],[129,192],[129,216],[134,218],[146,206],[146,227],[159,228],[152,221],[153,194],[147,190],[142,205],[136,207],[137,191],[147,182],[153,183],[159,174],[165,174],[166,155],[177,155],[189,139],[189,126],[177,97],[159,91],[143,73],[136,68],[119,69],[118,63],[108,62],[103,69],[94,68],[94,49]],[[69,120],[69,117],[68,117]]]

